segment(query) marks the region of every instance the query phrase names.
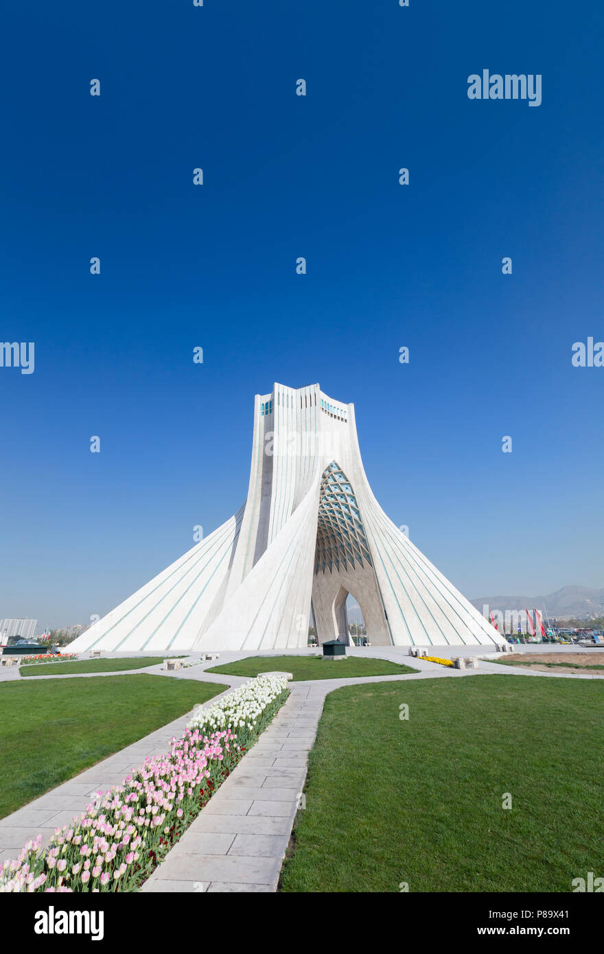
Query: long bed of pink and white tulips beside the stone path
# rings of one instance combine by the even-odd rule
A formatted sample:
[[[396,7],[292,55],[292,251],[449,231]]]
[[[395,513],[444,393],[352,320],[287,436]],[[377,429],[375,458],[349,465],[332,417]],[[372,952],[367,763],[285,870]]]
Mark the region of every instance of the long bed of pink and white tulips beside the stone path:
[[[194,711],[166,756],[115,785],[42,849],[5,861],[0,892],[133,891],[163,860],[287,698],[287,680],[259,676]]]

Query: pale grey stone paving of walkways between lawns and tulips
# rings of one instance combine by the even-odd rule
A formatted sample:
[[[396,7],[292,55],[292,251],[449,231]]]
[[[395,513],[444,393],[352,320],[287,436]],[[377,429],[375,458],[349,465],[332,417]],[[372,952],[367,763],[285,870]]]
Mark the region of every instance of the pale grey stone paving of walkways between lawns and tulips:
[[[529,650],[528,647],[521,647]],[[543,652],[544,647],[530,648]],[[560,647],[555,648],[556,651]],[[569,647],[569,650],[573,649]],[[474,651],[475,652],[475,651]],[[595,653],[604,651],[595,650]],[[300,655],[312,654],[295,653]],[[336,689],[366,682],[399,682],[407,679],[463,678],[480,674],[521,674],[537,677],[602,679],[598,674],[556,674],[527,671],[526,667],[501,666],[481,658],[478,670],[456,670],[422,658],[411,659],[406,649],[370,647],[352,650],[353,655],[372,656],[408,663],[413,674],[341,677],[290,683],[291,695],[262,733],[258,742],[220,786],[218,792],[199,813],[167,858],[156,868],[143,891],[276,891],[281,861],[287,849],[293,822],[306,778],[308,753],[312,748],[323,713],[325,696]],[[445,655],[444,649],[434,653]],[[125,653],[122,653],[123,656]],[[291,654],[291,653],[288,653]],[[448,648],[450,657],[450,648]],[[456,654],[461,654],[456,651]],[[468,651],[466,655],[469,655]],[[115,653],[117,655],[117,653]],[[129,653],[135,655],[135,653]],[[219,664],[250,655],[279,653],[220,653]],[[494,658],[494,653],[492,658]],[[193,657],[191,657],[193,658]],[[604,658],[604,656],[602,657]],[[599,660],[598,660],[599,661]],[[52,665],[52,664],[50,664]],[[229,688],[247,681],[246,677],[206,673],[216,661],[200,663],[188,669],[165,672],[160,664],[119,675],[161,674],[170,678],[198,679],[226,683]],[[343,666],[345,661],[325,663]],[[36,681],[45,678],[86,678],[115,673],[44,674],[27,680],[18,670],[0,670],[0,681]],[[219,696],[209,700],[212,704]],[[180,735],[191,714],[175,719],[149,736],[122,749],[114,756],[36,798],[25,807],[0,819],[0,862],[15,857],[26,841],[42,833],[47,844],[54,830],[69,823],[85,810],[99,790],[107,790],[133,772],[146,756],[168,748],[170,739]]]

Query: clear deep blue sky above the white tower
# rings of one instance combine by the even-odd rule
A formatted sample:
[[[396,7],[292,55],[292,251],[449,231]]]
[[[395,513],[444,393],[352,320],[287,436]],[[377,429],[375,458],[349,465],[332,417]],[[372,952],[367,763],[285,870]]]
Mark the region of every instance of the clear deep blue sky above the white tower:
[[[35,371],[0,368],[0,616],[87,621],[216,528],[275,381],[354,402],[378,500],[470,598],[604,586],[604,368],[571,364],[604,339],[603,27],[585,0],[11,5],[0,339]],[[541,73],[542,105],[470,101],[485,68]]]

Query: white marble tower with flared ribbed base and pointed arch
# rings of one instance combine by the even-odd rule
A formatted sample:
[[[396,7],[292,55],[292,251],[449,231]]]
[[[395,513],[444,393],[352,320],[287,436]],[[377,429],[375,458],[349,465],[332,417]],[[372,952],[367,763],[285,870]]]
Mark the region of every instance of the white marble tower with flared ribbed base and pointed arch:
[[[243,507],[70,648],[301,648],[311,604],[319,641],[345,638],[348,593],[374,646],[498,638],[373,496],[354,405],[275,384],[255,399]]]

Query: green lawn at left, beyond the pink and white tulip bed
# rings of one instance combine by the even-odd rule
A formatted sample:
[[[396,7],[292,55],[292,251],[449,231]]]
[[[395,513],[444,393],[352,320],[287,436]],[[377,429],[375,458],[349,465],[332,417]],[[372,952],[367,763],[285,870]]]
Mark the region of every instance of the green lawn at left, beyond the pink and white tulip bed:
[[[0,683],[0,818],[226,688],[144,674]]]

